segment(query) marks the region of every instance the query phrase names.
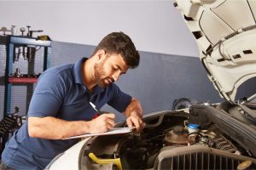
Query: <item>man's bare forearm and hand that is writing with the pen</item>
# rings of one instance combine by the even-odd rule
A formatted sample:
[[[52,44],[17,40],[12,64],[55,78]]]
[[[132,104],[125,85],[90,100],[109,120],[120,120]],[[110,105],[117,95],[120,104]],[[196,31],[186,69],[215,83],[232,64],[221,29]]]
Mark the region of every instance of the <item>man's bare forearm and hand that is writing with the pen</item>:
[[[114,114],[102,114],[89,122],[65,121],[53,116],[28,117],[28,134],[33,138],[63,139],[83,133],[103,133],[114,126]]]

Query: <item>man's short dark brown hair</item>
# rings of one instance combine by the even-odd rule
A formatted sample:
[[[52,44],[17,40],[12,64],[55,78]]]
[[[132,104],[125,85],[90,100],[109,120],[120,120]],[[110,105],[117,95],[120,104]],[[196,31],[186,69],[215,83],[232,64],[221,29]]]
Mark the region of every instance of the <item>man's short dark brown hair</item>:
[[[125,60],[126,65],[136,68],[140,62],[140,54],[135,48],[131,38],[124,32],[112,32],[104,37],[97,45],[94,53],[100,49],[105,50],[107,54],[120,54]]]

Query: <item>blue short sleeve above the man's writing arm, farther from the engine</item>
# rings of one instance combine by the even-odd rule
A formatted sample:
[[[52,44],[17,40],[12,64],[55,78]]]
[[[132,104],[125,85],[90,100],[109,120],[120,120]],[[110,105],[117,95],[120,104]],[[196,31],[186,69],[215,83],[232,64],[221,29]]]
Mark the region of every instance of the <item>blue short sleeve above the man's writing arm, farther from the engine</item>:
[[[27,116],[55,116],[59,111],[65,91],[65,83],[60,74],[44,72],[32,95]]]

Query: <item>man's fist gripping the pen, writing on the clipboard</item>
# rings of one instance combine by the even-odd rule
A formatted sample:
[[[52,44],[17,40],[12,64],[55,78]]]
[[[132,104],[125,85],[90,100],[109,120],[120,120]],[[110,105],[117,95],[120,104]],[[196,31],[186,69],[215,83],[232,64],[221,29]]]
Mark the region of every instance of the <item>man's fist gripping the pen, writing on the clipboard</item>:
[[[113,113],[102,114],[89,122],[89,133],[105,133],[114,126]]]

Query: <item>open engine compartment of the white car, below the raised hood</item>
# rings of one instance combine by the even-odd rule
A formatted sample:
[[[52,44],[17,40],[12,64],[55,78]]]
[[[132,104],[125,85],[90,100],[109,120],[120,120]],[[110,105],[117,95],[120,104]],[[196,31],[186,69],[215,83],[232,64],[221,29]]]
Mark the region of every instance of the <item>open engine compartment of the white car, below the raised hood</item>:
[[[89,153],[102,160],[119,158],[123,169],[236,169],[240,164],[255,168],[255,156],[239,139],[207,116],[193,118],[200,109],[194,108],[191,114],[192,106],[189,111],[162,111],[145,117],[147,126],[142,133],[90,139],[84,147],[81,169],[116,168],[111,161],[97,164]],[[191,122],[198,123],[198,131],[189,132]],[[125,122],[118,126],[125,126]]]

